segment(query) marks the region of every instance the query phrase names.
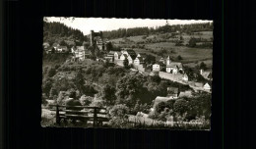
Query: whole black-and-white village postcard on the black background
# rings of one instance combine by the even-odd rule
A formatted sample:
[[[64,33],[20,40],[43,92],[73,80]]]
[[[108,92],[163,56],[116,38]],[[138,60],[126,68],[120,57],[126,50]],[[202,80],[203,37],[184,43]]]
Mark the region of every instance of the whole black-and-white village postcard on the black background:
[[[211,130],[214,22],[44,17],[41,126]]]

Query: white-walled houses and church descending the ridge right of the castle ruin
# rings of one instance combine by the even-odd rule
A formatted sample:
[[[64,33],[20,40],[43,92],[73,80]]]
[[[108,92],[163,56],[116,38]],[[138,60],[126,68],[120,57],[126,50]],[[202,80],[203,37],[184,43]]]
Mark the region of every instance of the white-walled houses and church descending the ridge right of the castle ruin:
[[[171,61],[170,56],[167,56],[166,59],[161,58],[158,63],[153,65],[146,65],[146,58],[146,53],[136,53],[134,50],[130,48],[123,48],[121,51],[110,51],[104,57],[104,59],[108,62],[115,63],[119,66],[123,66],[124,60],[128,60],[128,64],[132,65],[133,68],[141,74],[147,74],[148,72],[150,72],[149,75],[160,75],[160,77],[163,78],[166,75],[166,78],[171,80],[173,80],[173,77],[176,77],[178,78],[178,80],[182,80],[183,82],[190,84],[192,86],[203,88],[205,90],[211,90],[211,84],[208,82],[204,84],[201,82],[189,81],[189,77],[184,72],[182,63]],[[151,67],[151,69],[147,70],[149,66]],[[209,70],[201,70],[200,75],[202,75],[208,80],[211,80],[210,75],[212,75],[212,73]]]

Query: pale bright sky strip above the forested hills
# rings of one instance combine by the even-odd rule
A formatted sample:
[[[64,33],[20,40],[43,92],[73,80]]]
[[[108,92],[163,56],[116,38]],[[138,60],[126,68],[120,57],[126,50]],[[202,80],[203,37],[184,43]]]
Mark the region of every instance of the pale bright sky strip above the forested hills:
[[[151,19],[102,19],[102,18],[59,18],[59,17],[46,17],[47,22],[58,22],[64,25],[81,30],[84,35],[89,34],[91,30],[105,31],[118,28],[131,28],[131,27],[154,27],[165,25],[166,20],[151,20]],[[167,20],[169,25],[187,25],[196,23],[209,23],[213,21],[202,20]]]

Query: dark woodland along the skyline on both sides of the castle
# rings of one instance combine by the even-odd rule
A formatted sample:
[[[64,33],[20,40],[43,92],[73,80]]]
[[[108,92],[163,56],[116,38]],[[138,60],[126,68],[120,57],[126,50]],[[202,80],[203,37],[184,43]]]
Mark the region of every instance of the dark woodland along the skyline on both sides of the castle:
[[[133,28],[119,28],[111,31],[103,31],[103,37],[108,39],[137,36],[137,35],[149,35],[156,33],[175,33],[185,32],[199,32],[199,31],[212,31],[213,23],[206,24],[191,24],[191,25],[162,25],[154,27],[133,27]],[[81,43],[84,41],[89,41],[88,35],[84,35],[79,29],[74,29],[60,23],[47,23],[43,22],[43,40],[48,41],[50,45],[55,42],[54,35],[59,37],[72,37],[72,39],[77,40]]]

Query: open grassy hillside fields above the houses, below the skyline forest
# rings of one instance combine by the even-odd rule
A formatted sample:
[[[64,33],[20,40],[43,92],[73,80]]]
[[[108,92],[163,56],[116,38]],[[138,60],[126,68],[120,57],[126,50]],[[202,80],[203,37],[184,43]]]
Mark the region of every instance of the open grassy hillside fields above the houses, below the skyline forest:
[[[156,36],[156,39],[162,39],[161,35],[150,35],[147,38],[154,39]],[[213,37],[213,31],[201,31],[201,32],[194,32],[193,35],[188,35],[185,33],[182,33],[182,36],[184,38],[184,44],[187,44],[189,39],[191,37],[196,38],[203,38],[203,39],[211,39]],[[114,41],[116,46],[119,47],[136,47],[136,42],[146,41],[147,39],[143,39],[143,36],[132,36],[127,37],[129,40],[134,41],[134,43],[122,43],[120,44],[119,41],[125,41],[123,38],[118,39],[112,39],[111,41]],[[176,38],[169,38],[176,39]],[[181,56],[183,64],[187,65],[188,67],[195,67],[196,65],[200,64],[201,62],[206,63],[208,68],[212,67],[212,61],[213,61],[213,49],[211,48],[190,48],[187,46],[175,46],[174,42],[158,42],[158,43],[143,43],[139,44],[139,46],[145,45],[144,48],[133,48],[136,52],[144,52],[147,54],[151,54],[157,57],[157,60],[160,59],[160,56],[157,54],[152,53],[151,50],[160,52],[160,50],[165,49],[167,51],[166,55],[170,55],[171,58],[176,58],[177,56]],[[171,52],[172,51],[172,52]]]

